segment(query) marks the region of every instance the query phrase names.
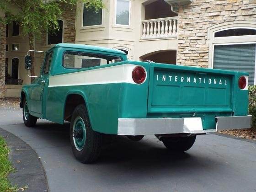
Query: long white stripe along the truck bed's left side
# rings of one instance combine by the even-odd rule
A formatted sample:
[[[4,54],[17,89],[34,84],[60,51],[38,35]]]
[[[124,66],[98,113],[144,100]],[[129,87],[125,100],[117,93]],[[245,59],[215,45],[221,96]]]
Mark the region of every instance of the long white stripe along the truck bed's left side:
[[[49,76],[49,87],[109,83],[136,84],[132,78],[132,71],[136,66],[137,65],[133,64],[122,64],[100,69]]]

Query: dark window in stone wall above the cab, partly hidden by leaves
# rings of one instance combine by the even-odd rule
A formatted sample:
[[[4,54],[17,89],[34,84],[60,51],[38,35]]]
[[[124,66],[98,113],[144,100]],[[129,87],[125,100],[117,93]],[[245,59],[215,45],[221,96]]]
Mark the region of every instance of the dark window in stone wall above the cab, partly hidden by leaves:
[[[63,42],[63,21],[58,19],[59,30],[55,32],[48,32],[47,44],[55,45]]]

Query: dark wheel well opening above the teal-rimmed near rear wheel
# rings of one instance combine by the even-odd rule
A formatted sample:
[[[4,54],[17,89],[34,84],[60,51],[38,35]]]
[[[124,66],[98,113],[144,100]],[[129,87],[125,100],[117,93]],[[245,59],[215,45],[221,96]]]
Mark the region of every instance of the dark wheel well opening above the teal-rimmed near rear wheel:
[[[65,112],[64,112],[65,121],[69,121],[69,122],[71,121],[71,117],[72,117],[73,111],[75,110],[75,107],[80,104],[85,104],[85,100],[82,96],[77,94],[68,95],[66,99]]]

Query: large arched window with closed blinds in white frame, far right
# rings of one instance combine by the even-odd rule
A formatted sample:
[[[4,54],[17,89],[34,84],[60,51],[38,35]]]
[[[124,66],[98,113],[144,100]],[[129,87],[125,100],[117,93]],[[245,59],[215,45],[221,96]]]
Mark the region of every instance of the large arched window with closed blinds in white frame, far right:
[[[213,69],[247,72],[248,84],[255,85],[255,35],[256,28],[251,27],[230,27],[213,32]],[[247,40],[240,42],[240,38]]]

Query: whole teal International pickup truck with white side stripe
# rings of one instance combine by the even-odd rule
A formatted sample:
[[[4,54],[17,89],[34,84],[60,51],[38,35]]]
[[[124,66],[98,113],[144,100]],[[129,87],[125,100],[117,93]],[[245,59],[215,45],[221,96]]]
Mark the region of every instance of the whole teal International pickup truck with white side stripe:
[[[22,87],[20,107],[28,127],[37,118],[69,121],[83,163],[98,158],[106,134],[155,135],[183,152],[198,134],[251,126],[247,73],[128,61],[122,51],[80,44],[45,52],[40,77]]]

